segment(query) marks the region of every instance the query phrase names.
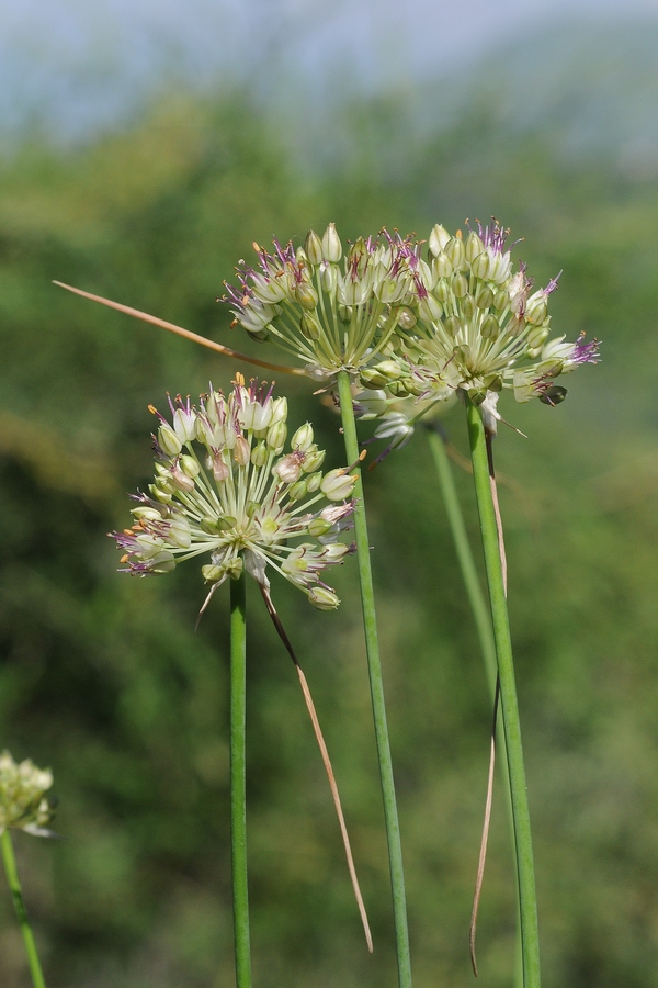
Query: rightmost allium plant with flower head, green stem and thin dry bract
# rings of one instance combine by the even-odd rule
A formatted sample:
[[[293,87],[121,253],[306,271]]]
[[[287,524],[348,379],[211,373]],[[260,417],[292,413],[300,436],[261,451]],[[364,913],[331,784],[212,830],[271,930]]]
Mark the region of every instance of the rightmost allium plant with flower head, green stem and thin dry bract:
[[[582,363],[597,363],[598,341],[587,343],[582,336],[575,343],[565,343],[564,336],[549,339],[548,299],[557,288],[558,279],[554,278],[545,288],[532,291],[526,266],[521,263],[519,270],[513,272],[511,248],[507,247],[508,235],[509,231],[502,229],[497,222],[486,228],[478,224],[478,232],[470,231],[465,242],[461,233],[451,237],[443,226],[434,226],[429,237],[427,262],[417,252],[413,254],[417,259],[415,297],[411,302],[407,301],[398,314],[397,330],[389,340],[386,359],[361,372],[361,383],[373,390],[373,397],[368,402],[367,396],[360,395],[356,404],[362,417],[379,418],[375,435],[389,440],[385,452],[407,442],[415,422],[436,403],[460,394],[466,406],[496,645],[498,681],[495,705],[500,695],[509,770],[520,903],[522,983],[525,988],[538,988],[541,974],[534,864],[492,439],[501,420],[497,408],[500,392],[511,390],[517,402],[538,397],[547,405],[558,404],[567,392],[564,386],[555,384],[555,380]],[[399,407],[396,409],[396,398],[413,396],[415,404],[420,403],[419,411],[411,414]],[[433,444],[433,453],[440,476],[443,473],[445,492],[446,464],[436,442]],[[457,540],[458,534],[454,534]],[[465,547],[462,549],[465,550]],[[473,595],[474,609],[478,607],[476,597],[477,592]],[[486,651],[487,629],[484,626],[483,631]],[[487,818],[489,808],[488,797]],[[486,827],[476,906],[485,847]],[[475,917],[476,908],[472,922],[474,967]]]

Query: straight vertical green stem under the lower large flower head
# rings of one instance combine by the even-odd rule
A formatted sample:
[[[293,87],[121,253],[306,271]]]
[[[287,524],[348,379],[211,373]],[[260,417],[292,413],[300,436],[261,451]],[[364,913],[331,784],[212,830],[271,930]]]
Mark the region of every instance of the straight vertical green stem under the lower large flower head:
[[[247,886],[245,573],[230,581],[230,860],[237,988],[251,988]]]

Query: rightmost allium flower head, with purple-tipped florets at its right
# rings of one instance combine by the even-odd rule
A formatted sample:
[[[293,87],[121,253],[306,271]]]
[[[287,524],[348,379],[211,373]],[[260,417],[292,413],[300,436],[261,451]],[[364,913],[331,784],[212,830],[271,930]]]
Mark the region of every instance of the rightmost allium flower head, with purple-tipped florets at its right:
[[[566,390],[554,380],[597,362],[597,340],[548,339],[557,278],[533,292],[525,265],[513,271],[509,231],[497,222],[477,226],[465,240],[461,232],[432,229],[429,263],[415,272],[413,299],[398,318],[397,346],[362,373],[364,385],[435,400],[462,389],[476,403],[509,388],[518,402],[556,404]]]

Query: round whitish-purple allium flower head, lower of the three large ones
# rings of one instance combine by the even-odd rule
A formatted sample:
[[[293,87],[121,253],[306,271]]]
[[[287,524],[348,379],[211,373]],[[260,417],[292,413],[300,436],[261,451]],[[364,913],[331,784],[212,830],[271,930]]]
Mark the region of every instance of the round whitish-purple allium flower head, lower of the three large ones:
[[[151,408],[160,427],[149,494],[134,495],[133,527],[112,532],[126,572],[168,573],[209,555],[202,573],[214,591],[242,566],[269,587],[272,565],[316,607],[337,607],[320,574],[351,551],[338,537],[350,525],[356,478],[321,472],[325,452],[308,423],[284,452],[286,400],[266,384],[246,386],[238,374],[226,396],[211,390],[198,406],[180,396],[169,404],[171,423]]]

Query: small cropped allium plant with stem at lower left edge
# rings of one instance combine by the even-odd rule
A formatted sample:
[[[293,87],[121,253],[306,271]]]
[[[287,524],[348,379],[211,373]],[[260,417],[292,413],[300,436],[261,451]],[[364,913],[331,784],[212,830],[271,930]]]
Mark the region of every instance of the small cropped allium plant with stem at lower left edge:
[[[37,768],[31,759],[16,764],[8,751],[0,755],[0,847],[34,988],[45,988],[46,983],[23,901],[10,830],[55,837],[45,828],[53,819],[53,807],[46,796],[52,785],[53,773],[48,768]]]

